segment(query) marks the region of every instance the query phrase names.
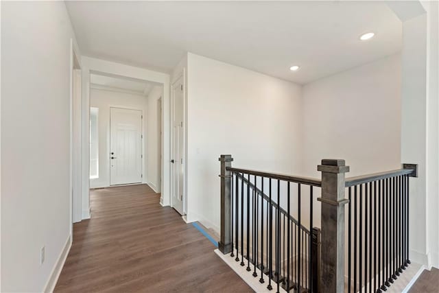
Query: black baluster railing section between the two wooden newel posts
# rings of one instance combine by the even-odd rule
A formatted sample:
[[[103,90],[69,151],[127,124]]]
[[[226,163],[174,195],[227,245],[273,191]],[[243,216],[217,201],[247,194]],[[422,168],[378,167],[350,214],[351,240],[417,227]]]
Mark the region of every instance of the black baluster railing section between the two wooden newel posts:
[[[231,257],[259,277],[260,283],[266,283],[268,290],[318,292],[319,278],[314,275],[318,274],[320,229],[311,232],[303,223],[313,226],[313,188],[320,182],[232,167],[227,170],[232,174]],[[307,192],[302,192],[304,186]],[[301,208],[305,196],[307,215]]]

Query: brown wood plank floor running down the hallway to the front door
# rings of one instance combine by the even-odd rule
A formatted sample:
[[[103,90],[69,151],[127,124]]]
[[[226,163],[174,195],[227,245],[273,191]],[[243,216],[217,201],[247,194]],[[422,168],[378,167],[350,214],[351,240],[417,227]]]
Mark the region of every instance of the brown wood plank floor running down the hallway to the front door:
[[[55,292],[252,292],[147,185],[91,192]]]

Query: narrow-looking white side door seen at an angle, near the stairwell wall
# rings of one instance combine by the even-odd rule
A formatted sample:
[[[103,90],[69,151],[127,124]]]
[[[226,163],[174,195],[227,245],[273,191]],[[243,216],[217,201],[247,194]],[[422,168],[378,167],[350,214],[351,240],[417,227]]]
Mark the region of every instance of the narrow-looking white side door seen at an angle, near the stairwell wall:
[[[183,209],[185,133],[183,128],[184,98],[182,78],[173,84],[172,91],[172,207],[183,215],[185,213]]]

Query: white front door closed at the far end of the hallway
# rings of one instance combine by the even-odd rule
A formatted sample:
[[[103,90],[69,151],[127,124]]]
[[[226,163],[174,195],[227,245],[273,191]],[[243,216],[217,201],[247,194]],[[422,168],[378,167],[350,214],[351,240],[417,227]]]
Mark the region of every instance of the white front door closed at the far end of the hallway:
[[[110,185],[142,181],[142,112],[110,108]]]

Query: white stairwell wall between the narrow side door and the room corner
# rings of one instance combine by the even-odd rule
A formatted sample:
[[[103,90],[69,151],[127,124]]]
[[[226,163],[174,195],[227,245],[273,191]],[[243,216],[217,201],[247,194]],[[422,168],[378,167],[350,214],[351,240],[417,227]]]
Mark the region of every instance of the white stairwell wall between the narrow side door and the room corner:
[[[219,155],[233,165],[297,174],[301,87],[187,56],[187,220],[219,231]]]

